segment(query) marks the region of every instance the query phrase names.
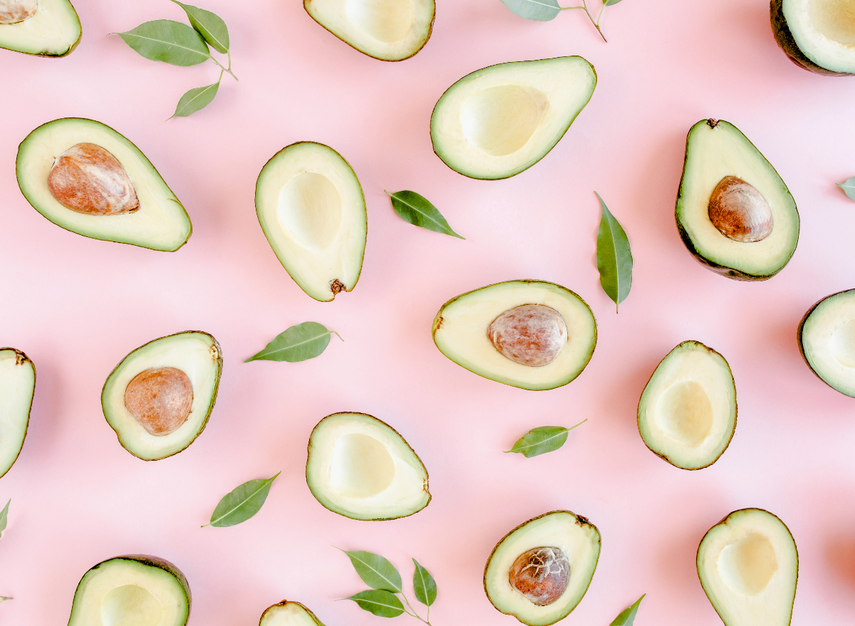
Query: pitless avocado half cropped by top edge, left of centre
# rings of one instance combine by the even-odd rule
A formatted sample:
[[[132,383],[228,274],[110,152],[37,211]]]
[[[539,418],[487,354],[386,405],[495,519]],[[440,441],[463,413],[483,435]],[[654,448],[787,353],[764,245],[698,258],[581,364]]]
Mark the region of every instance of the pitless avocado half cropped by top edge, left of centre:
[[[428,43],[433,0],[303,0],[327,31],[380,61],[403,61]]]

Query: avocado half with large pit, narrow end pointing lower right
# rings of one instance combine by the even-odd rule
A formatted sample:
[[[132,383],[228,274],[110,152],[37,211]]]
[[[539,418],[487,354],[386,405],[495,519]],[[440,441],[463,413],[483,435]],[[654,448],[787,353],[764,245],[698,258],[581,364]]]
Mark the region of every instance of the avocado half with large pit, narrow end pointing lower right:
[[[175,251],[190,217],[151,162],[99,121],[49,121],[18,148],[18,186],[57,226],[92,239]]]

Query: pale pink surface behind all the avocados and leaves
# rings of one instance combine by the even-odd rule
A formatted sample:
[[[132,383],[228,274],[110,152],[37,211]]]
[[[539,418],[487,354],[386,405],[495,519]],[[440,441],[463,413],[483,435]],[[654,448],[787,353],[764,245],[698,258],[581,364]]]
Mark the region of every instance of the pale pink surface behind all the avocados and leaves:
[[[580,11],[540,23],[498,0],[439,0],[433,38],[402,63],[352,50],[296,0],[206,0],[230,28],[240,82],[224,78],[208,109],[168,122],[180,95],[215,80],[216,68],[150,62],[107,33],[183,21],[181,9],[165,0],[76,5],[84,34],[68,58],[0,50],[0,345],[26,351],[38,369],[26,444],[0,481],[0,500],[12,499],[0,595],[15,597],[0,605],[3,624],[65,623],[80,576],[128,552],[184,571],[195,626],[254,624],[283,598],[329,626],[385,623],[334,601],[364,585],[333,546],[380,552],[405,581],[418,558],[439,582],[434,626],[512,624],[483,592],[487,555],[518,523],[566,508],[598,526],[603,549],[564,623],[608,624],[646,593],[640,626],[711,626],[720,622],[695,551],[707,529],[748,506],[781,517],[799,546],[793,623],[852,620],[855,400],[811,374],[795,331],[817,299],[855,286],[855,205],[834,186],[855,174],[855,80],[787,61],[764,0],[628,0],[606,10],[610,44]],[[597,68],[597,90],[534,168],[482,182],[433,155],[431,109],[455,80],[492,63],[573,54]],[[32,210],[15,183],[17,145],[64,116],[103,121],[144,151],[192,216],[184,248],[85,239]],[[799,204],[799,249],[771,281],[714,275],[677,236],[685,136],[711,116],[740,127]],[[334,304],[299,290],[255,216],[258,172],[303,139],[344,155],[368,201],[362,278]],[[384,188],[421,192],[467,240],[401,221]],[[620,315],[598,284],[594,190],[632,241],[634,285]],[[567,387],[505,387],[433,345],[431,322],[447,299],[516,278],[567,286],[597,317],[593,360]],[[306,320],[345,343],[333,339],[305,363],[242,363]],[[193,446],[144,463],[104,421],[101,387],[127,352],[186,329],[220,341],[220,396]],[[728,451],[699,472],[655,457],[635,423],[652,370],[689,339],[728,359],[740,407]],[[404,434],[430,472],[426,510],[354,522],[315,501],[306,442],[321,417],[341,410]],[[560,452],[501,452],[528,428],[586,417]],[[199,528],[224,493],[279,470],[257,517]]]

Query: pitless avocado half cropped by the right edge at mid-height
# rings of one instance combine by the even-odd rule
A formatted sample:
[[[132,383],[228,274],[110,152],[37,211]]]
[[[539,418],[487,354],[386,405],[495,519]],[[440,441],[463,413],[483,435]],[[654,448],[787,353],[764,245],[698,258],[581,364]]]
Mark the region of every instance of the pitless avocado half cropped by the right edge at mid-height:
[[[799,351],[814,374],[855,398],[855,289],[833,293],[805,313]]]

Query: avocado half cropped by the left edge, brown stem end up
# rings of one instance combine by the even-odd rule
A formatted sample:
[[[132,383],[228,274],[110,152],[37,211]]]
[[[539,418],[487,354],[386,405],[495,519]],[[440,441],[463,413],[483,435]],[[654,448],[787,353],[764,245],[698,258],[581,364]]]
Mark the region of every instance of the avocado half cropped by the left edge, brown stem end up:
[[[0,348],[0,478],[15,464],[30,423],[36,368],[15,348]]]

